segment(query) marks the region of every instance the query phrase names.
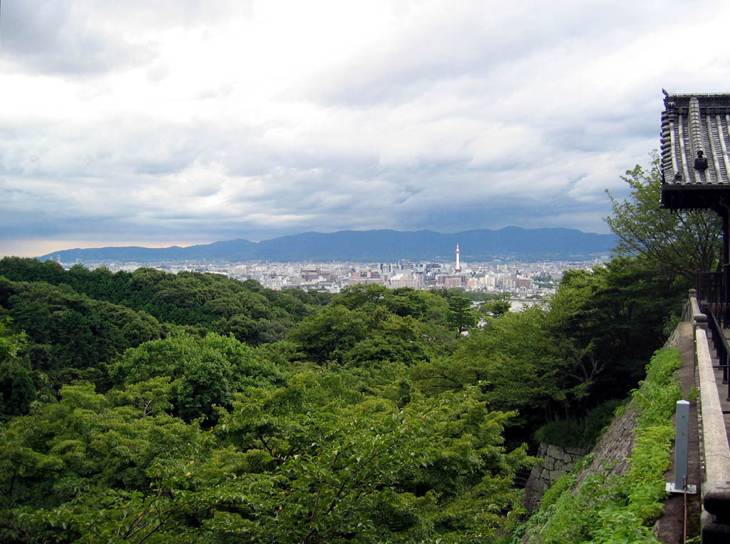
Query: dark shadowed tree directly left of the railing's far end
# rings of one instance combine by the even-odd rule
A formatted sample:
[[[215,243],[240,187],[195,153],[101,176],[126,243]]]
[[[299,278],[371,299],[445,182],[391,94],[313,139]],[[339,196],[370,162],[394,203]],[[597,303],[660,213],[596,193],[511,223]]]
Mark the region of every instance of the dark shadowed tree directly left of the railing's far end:
[[[553,336],[569,336],[582,347],[574,372],[590,383],[593,402],[623,398],[643,379],[643,361],[666,340],[664,323],[680,315],[685,293],[642,258],[566,272],[550,302]]]

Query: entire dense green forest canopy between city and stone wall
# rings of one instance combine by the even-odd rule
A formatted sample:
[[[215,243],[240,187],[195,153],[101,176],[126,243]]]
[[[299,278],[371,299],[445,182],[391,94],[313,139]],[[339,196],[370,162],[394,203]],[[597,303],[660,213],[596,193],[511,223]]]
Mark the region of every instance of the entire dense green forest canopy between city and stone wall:
[[[513,313],[4,258],[0,539],[499,540],[536,429],[626,396],[683,288],[617,258]]]

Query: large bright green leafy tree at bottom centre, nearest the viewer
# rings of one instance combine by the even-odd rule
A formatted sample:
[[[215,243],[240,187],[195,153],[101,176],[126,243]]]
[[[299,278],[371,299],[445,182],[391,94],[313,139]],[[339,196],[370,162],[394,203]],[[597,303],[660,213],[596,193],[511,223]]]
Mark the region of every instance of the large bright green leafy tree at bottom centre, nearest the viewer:
[[[260,472],[247,479],[248,504],[220,508],[211,524],[277,543],[496,540],[527,462],[523,448],[504,451],[506,421],[473,389],[404,407],[334,375],[249,391],[216,433]]]

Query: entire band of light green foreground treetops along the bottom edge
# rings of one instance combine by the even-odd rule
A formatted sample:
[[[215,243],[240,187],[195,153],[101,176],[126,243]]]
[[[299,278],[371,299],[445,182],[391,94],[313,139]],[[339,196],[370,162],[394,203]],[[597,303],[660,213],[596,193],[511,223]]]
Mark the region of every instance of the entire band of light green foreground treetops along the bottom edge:
[[[210,432],[166,414],[166,378],[1,429],[3,540],[486,542],[518,505],[508,414],[478,392],[402,407],[331,372],[249,388]],[[518,511],[518,510],[516,510]]]

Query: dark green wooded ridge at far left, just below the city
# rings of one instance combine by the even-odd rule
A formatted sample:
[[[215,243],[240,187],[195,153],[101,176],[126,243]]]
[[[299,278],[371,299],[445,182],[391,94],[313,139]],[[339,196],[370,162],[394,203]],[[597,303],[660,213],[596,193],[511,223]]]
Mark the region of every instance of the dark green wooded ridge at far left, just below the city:
[[[65,285],[77,294],[120,304],[159,321],[194,326],[204,333],[232,332],[251,345],[283,340],[294,323],[329,299],[299,289],[272,291],[253,280],[240,282],[217,274],[174,275],[149,268],[112,274],[104,268],[89,272],[80,264],[64,271],[50,261],[18,257],[0,259],[0,276]]]

